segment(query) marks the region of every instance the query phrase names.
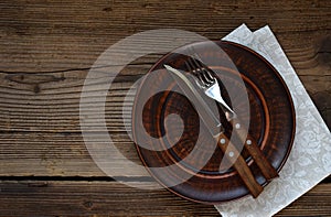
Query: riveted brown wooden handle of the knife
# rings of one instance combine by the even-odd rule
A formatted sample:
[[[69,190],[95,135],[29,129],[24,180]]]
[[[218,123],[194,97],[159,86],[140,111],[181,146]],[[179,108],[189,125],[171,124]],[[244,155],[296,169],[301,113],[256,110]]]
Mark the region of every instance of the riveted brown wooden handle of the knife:
[[[217,145],[221,148],[224,155],[226,155],[225,158],[233,164],[252,196],[256,198],[264,188],[255,180],[246,161],[241,155],[241,152],[237,151],[234,144],[231,143],[223,133],[218,137]]]

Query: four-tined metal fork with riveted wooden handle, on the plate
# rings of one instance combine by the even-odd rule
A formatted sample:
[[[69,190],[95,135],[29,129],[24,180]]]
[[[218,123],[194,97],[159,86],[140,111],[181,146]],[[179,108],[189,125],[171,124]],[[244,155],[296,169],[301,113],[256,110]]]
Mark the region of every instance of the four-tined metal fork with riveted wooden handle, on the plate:
[[[247,135],[248,131],[246,127],[241,123],[236,113],[224,101],[218,82],[214,76],[215,73],[200,61],[196,53],[194,53],[193,57],[189,57],[185,65],[189,72],[194,75],[196,84],[204,90],[205,95],[221,104],[221,108],[227,121],[229,121],[236,130],[239,140],[244,143],[245,149],[249,152],[265,178],[270,181],[278,177],[277,171],[258,148],[256,140],[252,135]]]

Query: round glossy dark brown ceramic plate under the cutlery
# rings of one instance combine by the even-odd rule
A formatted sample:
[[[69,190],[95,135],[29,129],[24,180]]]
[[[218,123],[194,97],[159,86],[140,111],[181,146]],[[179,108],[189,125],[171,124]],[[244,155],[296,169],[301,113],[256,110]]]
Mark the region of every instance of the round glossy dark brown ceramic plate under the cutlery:
[[[215,44],[227,55],[212,48]],[[178,86],[169,78],[170,75],[163,67],[163,64],[169,64],[185,70],[185,56],[179,53],[188,50],[188,46],[191,45],[180,47],[162,57],[150,69],[138,89],[132,119],[136,128],[134,138],[135,141],[139,141],[137,143],[140,143],[136,144],[139,156],[151,175],[179,196],[207,204],[241,198],[248,194],[243,181],[232,167],[220,170],[222,152],[209,134],[207,128],[200,122],[199,115],[190,100],[175,91]],[[235,97],[226,100],[228,104],[237,105],[237,115],[242,119],[249,119],[249,133],[257,139],[263,153],[279,172],[291,150],[295,135],[295,110],[289,90],[278,72],[260,55],[235,43],[200,42],[194,44],[194,47],[201,57],[212,59],[209,66],[216,72],[220,80],[232,84],[227,88],[237,90]],[[229,67],[229,59],[235,64],[236,72]],[[233,76],[236,73],[239,73],[244,80],[244,88]],[[168,90],[150,97],[150,93],[157,93],[160,86],[167,86]],[[248,116],[246,110],[241,110],[243,91],[248,94]],[[223,89],[223,93],[226,98],[226,89]],[[180,116],[182,123],[164,121],[164,118],[171,113]],[[225,126],[225,133],[229,135],[231,126],[226,124],[220,108],[218,113]],[[137,140],[137,132],[142,129],[150,137]],[[159,138],[159,140],[150,138]],[[194,149],[197,138],[202,141],[203,149]],[[193,150],[195,158],[183,162],[182,160]],[[245,150],[243,155],[257,182],[261,185],[268,184]],[[200,156],[210,158],[203,166]]]

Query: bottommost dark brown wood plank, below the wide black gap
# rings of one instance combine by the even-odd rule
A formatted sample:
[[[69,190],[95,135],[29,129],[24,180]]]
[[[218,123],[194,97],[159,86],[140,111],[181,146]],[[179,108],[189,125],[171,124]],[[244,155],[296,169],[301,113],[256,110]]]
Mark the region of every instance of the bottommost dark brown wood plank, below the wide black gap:
[[[143,191],[115,182],[1,181],[0,188],[1,216],[217,216],[213,206],[166,189]],[[330,191],[330,184],[321,184],[276,216],[329,216]]]

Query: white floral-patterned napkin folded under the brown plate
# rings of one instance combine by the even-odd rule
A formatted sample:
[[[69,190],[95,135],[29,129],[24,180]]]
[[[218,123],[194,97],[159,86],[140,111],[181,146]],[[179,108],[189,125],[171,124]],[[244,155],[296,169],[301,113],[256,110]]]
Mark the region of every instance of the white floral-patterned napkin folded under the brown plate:
[[[269,26],[252,32],[241,25],[223,40],[243,44],[268,59],[285,79],[296,109],[296,137],[279,178],[252,196],[216,205],[222,216],[273,216],[331,173],[331,133]]]

